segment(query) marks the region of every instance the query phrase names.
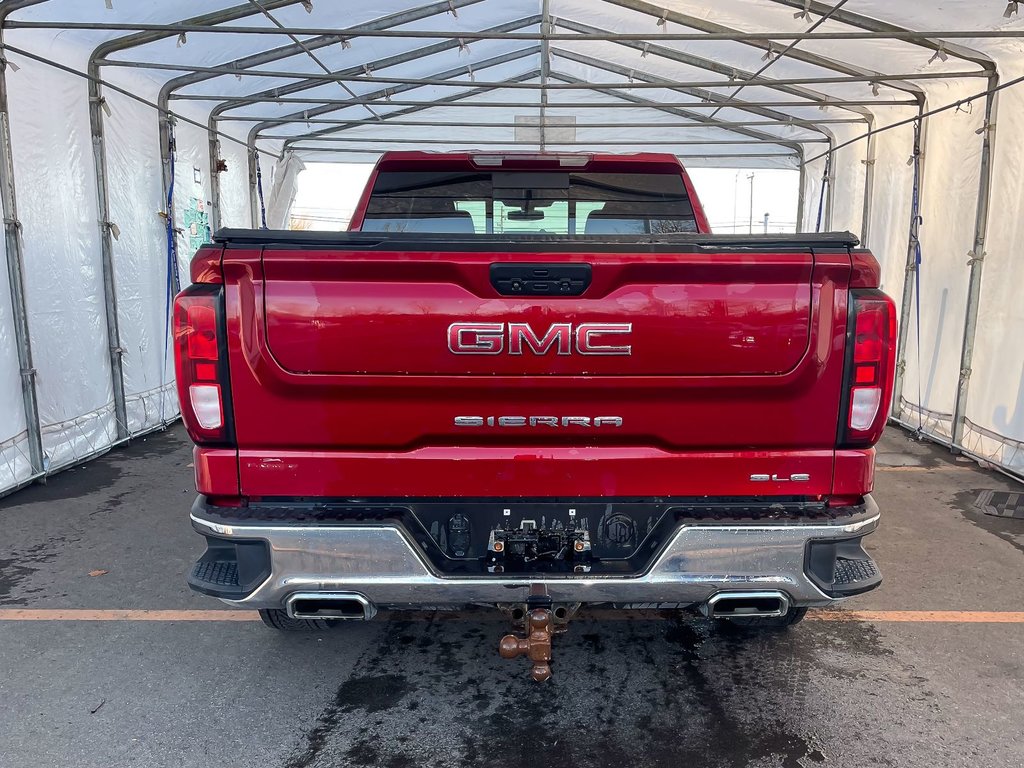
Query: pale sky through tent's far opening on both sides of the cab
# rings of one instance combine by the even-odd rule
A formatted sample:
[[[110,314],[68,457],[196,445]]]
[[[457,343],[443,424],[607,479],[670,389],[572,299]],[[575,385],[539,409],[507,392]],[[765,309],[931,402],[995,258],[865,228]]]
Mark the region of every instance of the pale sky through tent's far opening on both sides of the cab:
[[[293,220],[303,219],[306,228],[310,229],[344,229],[372,169],[368,164],[310,164],[299,175],[298,194],[292,206]],[[694,168],[689,174],[713,231],[723,234],[752,229],[755,233],[763,232],[766,213],[768,231],[795,230],[800,183],[797,171]]]

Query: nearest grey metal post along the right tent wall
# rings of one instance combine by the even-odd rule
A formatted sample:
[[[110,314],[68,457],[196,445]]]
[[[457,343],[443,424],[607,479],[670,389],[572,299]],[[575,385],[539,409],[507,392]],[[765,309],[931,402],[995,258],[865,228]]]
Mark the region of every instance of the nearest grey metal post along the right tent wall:
[[[989,75],[988,88],[998,86],[998,75]],[[995,112],[997,92],[985,96],[985,124],[982,131],[981,171],[978,183],[978,209],[974,219],[974,248],[970,260],[971,279],[968,285],[967,310],[964,318],[964,343],[961,347],[959,385],[953,404],[952,440],[950,449],[955,453],[964,446],[964,431],[967,420],[967,398],[971,387],[971,371],[974,360],[974,341],[978,330],[978,307],[981,302],[981,273],[985,264],[985,239],[988,234],[988,205],[992,191],[992,142],[995,137]]]

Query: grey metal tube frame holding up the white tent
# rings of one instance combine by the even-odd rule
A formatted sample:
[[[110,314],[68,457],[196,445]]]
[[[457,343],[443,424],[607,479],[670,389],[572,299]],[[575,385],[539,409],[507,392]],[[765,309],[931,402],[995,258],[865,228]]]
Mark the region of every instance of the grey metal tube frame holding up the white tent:
[[[481,29],[453,29],[450,22],[462,10],[482,7],[488,0],[439,0],[415,4],[382,14],[368,23],[344,29],[287,25],[278,17],[294,6],[315,6],[325,0],[234,0],[233,4],[209,12],[181,18],[173,23],[104,22],[102,10],[94,20],[39,20],[18,17],[18,11],[43,6],[51,0],[0,0],[0,195],[4,208],[4,229],[7,249],[8,278],[14,308],[13,336],[16,340],[22,374],[24,409],[28,424],[32,477],[48,471],[39,426],[37,381],[33,366],[29,312],[25,289],[24,233],[17,214],[15,169],[12,159],[10,111],[8,106],[8,60],[23,56],[39,63],[49,62],[65,71],[75,72],[87,82],[89,124],[94,154],[95,194],[99,212],[99,243],[103,306],[106,323],[108,349],[114,391],[118,441],[131,433],[126,414],[123,370],[124,349],[118,311],[118,290],[115,282],[114,240],[116,225],[111,220],[111,189],[106,173],[109,137],[104,131],[104,89],[152,105],[159,115],[159,137],[162,147],[163,189],[165,199],[171,188],[169,163],[171,135],[176,121],[184,120],[202,126],[208,135],[211,169],[221,159],[222,142],[240,142],[249,159],[248,175],[252,221],[259,222],[256,195],[259,173],[258,157],[282,157],[288,153],[315,153],[336,156],[339,152],[372,155],[386,144],[460,146],[442,138],[409,138],[394,129],[427,127],[460,127],[473,129],[515,128],[517,123],[504,120],[446,120],[437,117],[410,119],[420,113],[444,114],[445,110],[471,109],[494,115],[499,110],[530,110],[537,112],[539,150],[574,145],[622,146],[632,144],[687,147],[685,153],[700,157],[742,161],[744,158],[787,158],[801,174],[801,201],[798,219],[803,224],[804,196],[809,186],[812,166],[822,161],[821,218],[829,226],[836,201],[837,169],[834,159],[847,147],[863,142],[861,234],[869,238],[871,203],[874,198],[876,140],[880,133],[909,121],[914,126],[912,145],[907,147],[916,164],[912,188],[906,195],[918,200],[925,174],[925,145],[928,118],[952,104],[938,109],[929,103],[927,84],[936,81],[978,79],[984,88],[978,89],[984,98],[981,135],[981,163],[978,178],[977,209],[974,219],[974,247],[971,255],[969,289],[966,306],[964,338],[961,350],[961,373],[952,415],[952,436],[949,444],[966,451],[964,434],[966,408],[970,391],[975,335],[981,300],[986,232],[989,218],[989,196],[992,184],[992,146],[1000,89],[1018,81],[1000,84],[995,61],[984,51],[976,50],[957,40],[1015,40],[1024,38],[1024,29],[999,30],[937,30],[915,31],[904,26],[874,18],[847,9],[847,0],[834,4],[817,0],[750,0],[752,3],[777,6],[794,16],[804,16],[810,23],[806,31],[752,31],[725,26],[708,18],[676,10],[646,0],[600,0],[595,6],[630,14],[636,25],[620,31],[605,29],[586,17],[571,14],[556,15],[551,0],[538,0],[536,13],[519,15]],[[217,3],[211,3],[216,5]],[[1013,4],[1011,4],[1013,5]],[[555,9],[557,10],[557,8]],[[992,12],[997,8],[993,5]],[[1009,9],[1008,9],[1009,13]],[[564,16],[564,17],[563,17]],[[258,22],[258,24],[257,24]],[[266,23],[269,24],[266,24]],[[643,29],[641,29],[641,24]],[[427,25],[427,26],[424,26]],[[4,40],[6,31],[61,30],[106,36],[88,55],[84,69],[48,60],[48,57]],[[151,55],[162,41],[177,38],[179,44],[193,45],[190,40],[204,36],[244,36],[260,39],[265,44],[258,50],[233,57],[224,56],[214,63],[181,63]],[[190,36],[190,38],[189,38]],[[366,56],[357,63],[333,68],[324,53],[350,47],[359,40],[399,40],[404,47],[387,55]],[[936,71],[882,72],[866,69],[853,61],[824,55],[811,48],[822,42],[864,43],[885,41],[898,43],[945,62],[949,68]],[[709,55],[699,55],[687,44],[720,42],[734,46],[730,50],[764,53],[756,69],[735,67]],[[438,65],[436,69],[412,77],[402,68],[436,58],[445,61],[445,54],[466,51],[470,45],[494,43],[512,46],[481,58],[468,56],[457,67]],[[582,52],[587,46],[610,44],[616,55],[630,55],[640,60],[629,67],[592,53]],[[608,49],[608,50],[612,50]],[[838,55],[838,54],[837,54]],[[130,56],[130,57],[128,57]],[[780,74],[783,62],[793,74]],[[521,71],[501,74],[508,65],[523,65]],[[310,67],[313,71],[309,71]],[[774,71],[773,71],[774,68]],[[116,85],[112,73],[119,70],[141,70],[162,81],[155,102]],[[574,73],[574,70],[577,71]],[[695,72],[671,77],[660,72]],[[582,77],[579,72],[599,73],[597,82]],[[488,79],[488,73],[498,73]],[[274,81],[270,87],[253,89],[251,82]],[[214,85],[210,92],[202,88]],[[335,85],[344,95],[328,96],[324,86]],[[437,95],[438,89],[442,95]],[[726,92],[723,92],[723,89]],[[486,96],[502,91],[526,93],[530,98],[487,100]],[[744,93],[745,91],[745,93]],[[590,93],[601,99],[561,101],[557,94]],[[764,94],[771,94],[765,96]],[[648,97],[647,94],[653,94]],[[672,94],[669,100],[659,95]],[[396,96],[404,96],[396,98]],[[743,97],[745,96],[745,97]],[[534,100],[536,98],[536,100]],[[291,109],[291,108],[295,109]],[[253,108],[257,112],[252,112]],[[205,120],[196,121],[184,113],[188,110],[205,113]],[[548,134],[552,112],[566,109],[587,114],[600,111],[602,119],[574,123],[575,128],[603,130],[624,125],[610,116],[643,114],[657,119],[630,123],[636,138],[553,140]],[[881,111],[912,111],[910,117],[879,127]],[[814,117],[809,110],[815,110]],[[355,112],[356,115],[350,114]],[[728,114],[725,114],[728,113]],[[888,113],[887,113],[888,114]],[[304,130],[303,130],[304,127]],[[712,137],[645,138],[645,132],[672,128],[674,131],[705,131]],[[845,138],[838,131],[861,129]],[[373,130],[375,135],[367,135]],[[476,139],[479,146],[513,147],[522,141]],[[739,147],[756,144],[764,153],[746,153]],[[379,145],[379,146],[378,146]],[[818,152],[819,145],[824,148]],[[374,147],[378,146],[377,150]],[[724,151],[712,152],[712,147]],[[736,150],[732,152],[732,150]],[[701,154],[703,153],[703,154]],[[221,190],[217,173],[211,173],[212,219],[220,216]],[[173,220],[173,209],[164,211]],[[907,365],[907,329],[910,326],[915,294],[912,290],[916,274],[916,252],[920,242],[921,218],[913,210],[907,223],[905,286],[900,310],[899,360],[896,380],[894,417],[900,414],[904,372]]]

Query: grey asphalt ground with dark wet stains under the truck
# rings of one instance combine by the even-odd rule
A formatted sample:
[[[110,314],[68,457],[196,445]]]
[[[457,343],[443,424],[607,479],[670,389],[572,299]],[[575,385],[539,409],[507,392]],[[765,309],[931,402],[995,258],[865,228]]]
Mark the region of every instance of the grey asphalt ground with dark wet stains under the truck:
[[[630,613],[498,657],[497,614],[287,635],[193,595],[180,427],[0,500],[0,766],[1021,766],[1020,484],[891,430],[883,587],[788,632]],[[91,573],[91,574],[90,574]]]

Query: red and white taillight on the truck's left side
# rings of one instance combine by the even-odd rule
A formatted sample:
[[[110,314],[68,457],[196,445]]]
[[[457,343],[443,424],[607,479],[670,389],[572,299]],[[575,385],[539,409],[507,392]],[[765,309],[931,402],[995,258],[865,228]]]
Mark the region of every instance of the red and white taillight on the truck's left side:
[[[230,441],[221,287],[193,285],[174,299],[174,365],[181,419],[199,444]]]

